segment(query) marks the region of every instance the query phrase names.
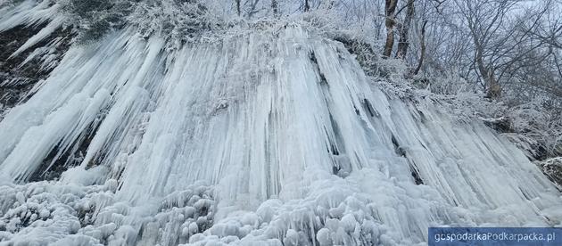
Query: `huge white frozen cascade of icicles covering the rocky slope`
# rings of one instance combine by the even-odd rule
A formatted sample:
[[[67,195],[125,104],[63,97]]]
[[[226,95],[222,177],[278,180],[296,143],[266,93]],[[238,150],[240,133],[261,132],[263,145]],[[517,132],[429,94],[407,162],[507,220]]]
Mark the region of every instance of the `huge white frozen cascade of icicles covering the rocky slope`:
[[[3,30],[41,16],[3,13]],[[35,91],[0,121],[2,245],[424,245],[428,226],[561,225],[558,190],[513,144],[384,94],[298,24],[179,50],[124,29],[72,46]]]

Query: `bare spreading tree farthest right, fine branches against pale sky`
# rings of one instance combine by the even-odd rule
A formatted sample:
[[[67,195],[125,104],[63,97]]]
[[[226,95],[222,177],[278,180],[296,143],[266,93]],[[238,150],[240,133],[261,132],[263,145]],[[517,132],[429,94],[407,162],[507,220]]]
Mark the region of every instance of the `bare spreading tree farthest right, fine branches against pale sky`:
[[[545,47],[549,39],[533,39],[541,29],[544,17],[554,1],[546,0],[526,9],[517,16],[516,0],[457,1],[474,45],[473,66],[480,78],[486,96],[497,99],[502,92],[502,81],[517,70],[539,64],[548,54],[534,55]],[[533,55],[532,55],[533,54]]]

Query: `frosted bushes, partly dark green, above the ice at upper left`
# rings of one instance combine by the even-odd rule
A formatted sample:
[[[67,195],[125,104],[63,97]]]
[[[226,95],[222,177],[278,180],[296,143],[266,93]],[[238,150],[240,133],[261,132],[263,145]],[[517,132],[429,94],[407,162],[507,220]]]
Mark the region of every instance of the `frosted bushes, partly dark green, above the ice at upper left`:
[[[67,0],[62,9],[78,23],[80,41],[95,41],[116,29],[136,29],[143,37],[159,35],[185,42],[219,24],[199,0]]]

